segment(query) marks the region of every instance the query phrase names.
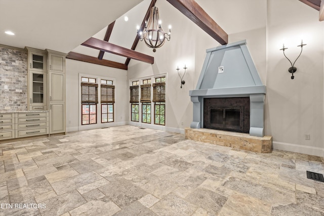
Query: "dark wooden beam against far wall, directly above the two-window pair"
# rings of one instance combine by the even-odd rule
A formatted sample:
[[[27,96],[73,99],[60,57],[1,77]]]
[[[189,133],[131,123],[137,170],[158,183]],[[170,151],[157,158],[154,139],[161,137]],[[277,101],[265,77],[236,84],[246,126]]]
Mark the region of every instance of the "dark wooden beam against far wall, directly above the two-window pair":
[[[66,58],[77,60],[77,61],[82,61],[82,62],[88,62],[88,63],[92,63],[92,64],[98,64],[98,65],[103,65],[103,66],[108,66],[108,67],[119,68],[119,69],[123,69],[123,70],[128,69],[128,66],[125,64],[122,64],[122,63],[112,62],[112,61],[108,61],[105,59],[99,60],[96,57],[87,56],[87,55],[74,53],[74,52],[69,52],[67,54]]]

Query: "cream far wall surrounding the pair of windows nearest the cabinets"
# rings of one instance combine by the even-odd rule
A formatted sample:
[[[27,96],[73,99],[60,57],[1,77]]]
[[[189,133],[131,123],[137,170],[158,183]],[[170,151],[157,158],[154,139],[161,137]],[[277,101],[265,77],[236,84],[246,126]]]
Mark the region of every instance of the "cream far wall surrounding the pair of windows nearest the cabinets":
[[[96,77],[106,77],[114,79],[115,83],[115,104],[114,122],[100,123],[92,125],[80,125],[80,82],[79,74],[90,74]],[[126,124],[128,116],[127,95],[127,72],[126,70],[89,64],[81,61],[66,59],[66,131],[78,131],[91,128],[100,128]],[[97,110],[99,110],[97,108]],[[100,119],[100,113],[98,113]],[[97,118],[97,119],[98,119]]]

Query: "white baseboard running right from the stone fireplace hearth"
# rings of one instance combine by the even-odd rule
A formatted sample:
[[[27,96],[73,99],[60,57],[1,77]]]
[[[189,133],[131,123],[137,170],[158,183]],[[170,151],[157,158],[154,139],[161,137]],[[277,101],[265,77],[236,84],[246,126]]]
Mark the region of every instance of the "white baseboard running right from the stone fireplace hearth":
[[[324,157],[324,148],[296,145],[291,143],[281,143],[272,141],[273,149],[297,152],[302,154]]]

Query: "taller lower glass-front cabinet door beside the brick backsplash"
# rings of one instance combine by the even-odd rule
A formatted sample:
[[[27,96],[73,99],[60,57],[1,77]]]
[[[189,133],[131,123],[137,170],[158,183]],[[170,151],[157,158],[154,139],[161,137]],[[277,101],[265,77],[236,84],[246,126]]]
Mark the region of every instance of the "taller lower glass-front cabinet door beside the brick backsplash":
[[[29,71],[29,110],[46,110],[46,73]]]

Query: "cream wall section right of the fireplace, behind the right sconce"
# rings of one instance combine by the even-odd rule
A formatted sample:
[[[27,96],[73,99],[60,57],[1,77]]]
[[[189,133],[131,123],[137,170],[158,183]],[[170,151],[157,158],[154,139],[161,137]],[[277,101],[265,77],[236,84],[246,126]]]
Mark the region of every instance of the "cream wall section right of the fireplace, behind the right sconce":
[[[268,1],[267,11],[267,134],[276,149],[323,156],[324,22],[318,21],[318,11],[299,1]],[[307,46],[291,79],[290,63],[279,49],[284,42],[294,62],[301,39]]]

